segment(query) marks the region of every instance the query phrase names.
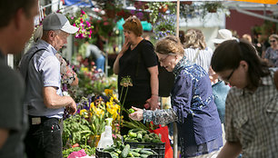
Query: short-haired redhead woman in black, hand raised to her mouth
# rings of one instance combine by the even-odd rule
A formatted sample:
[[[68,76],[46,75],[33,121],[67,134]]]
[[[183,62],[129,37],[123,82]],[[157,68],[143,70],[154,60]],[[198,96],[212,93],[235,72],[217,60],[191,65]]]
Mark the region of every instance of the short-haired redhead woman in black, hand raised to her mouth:
[[[118,93],[122,94],[121,103],[124,101],[126,87],[122,92],[121,79],[130,76],[133,86],[128,87],[124,108],[131,106],[139,108],[150,107],[152,110],[159,108],[158,104],[158,67],[154,54],[154,45],[141,36],[143,27],[136,16],[125,20],[124,45],[114,62],[114,74],[118,74]],[[124,115],[124,120],[128,116]],[[126,132],[126,131],[125,131]],[[121,129],[121,133],[125,133]]]

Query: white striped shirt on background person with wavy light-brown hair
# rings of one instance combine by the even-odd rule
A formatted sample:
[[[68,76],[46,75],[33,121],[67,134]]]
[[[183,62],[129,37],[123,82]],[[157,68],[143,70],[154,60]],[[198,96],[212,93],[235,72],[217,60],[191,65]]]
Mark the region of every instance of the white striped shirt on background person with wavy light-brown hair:
[[[199,51],[199,54],[196,56],[197,52]],[[213,49],[210,47],[206,47],[204,50],[199,50],[198,48],[186,48],[184,49],[184,55],[186,58],[195,63],[201,65],[205,72],[209,72],[209,68],[211,65],[211,59],[213,56]],[[194,58],[196,58],[194,60]]]

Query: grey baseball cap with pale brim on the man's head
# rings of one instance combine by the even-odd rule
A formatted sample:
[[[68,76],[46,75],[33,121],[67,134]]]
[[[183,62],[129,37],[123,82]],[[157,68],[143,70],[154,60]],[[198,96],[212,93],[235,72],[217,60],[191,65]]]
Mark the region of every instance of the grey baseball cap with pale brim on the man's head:
[[[78,31],[78,27],[70,25],[65,15],[53,13],[47,15],[43,21],[44,30],[62,30],[68,34],[74,34]]]

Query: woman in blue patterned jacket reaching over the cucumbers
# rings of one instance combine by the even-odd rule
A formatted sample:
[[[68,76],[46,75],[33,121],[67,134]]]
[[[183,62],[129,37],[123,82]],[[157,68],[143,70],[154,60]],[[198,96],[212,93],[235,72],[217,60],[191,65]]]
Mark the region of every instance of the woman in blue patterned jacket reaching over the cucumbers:
[[[216,157],[223,146],[222,127],[208,74],[186,59],[183,45],[174,36],[158,41],[155,52],[160,64],[175,75],[172,108],[149,111],[134,107],[136,112],[130,117],[155,124],[176,122],[182,157]]]

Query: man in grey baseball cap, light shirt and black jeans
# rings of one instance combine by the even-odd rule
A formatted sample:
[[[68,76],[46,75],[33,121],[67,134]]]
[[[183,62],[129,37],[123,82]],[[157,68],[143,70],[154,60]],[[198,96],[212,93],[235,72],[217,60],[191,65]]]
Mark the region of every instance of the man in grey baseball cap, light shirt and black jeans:
[[[43,35],[23,56],[20,71],[26,85],[24,105],[28,109],[29,131],[25,137],[28,158],[61,158],[60,121],[65,108],[76,112],[76,104],[61,91],[60,62],[55,54],[67,37],[78,31],[65,15],[51,14],[43,21]]]

